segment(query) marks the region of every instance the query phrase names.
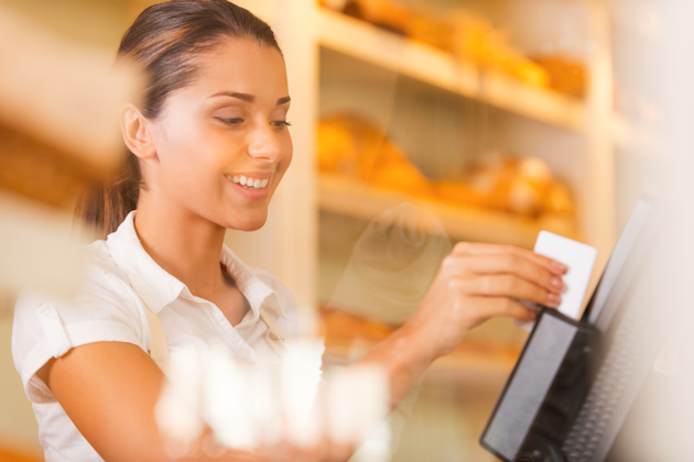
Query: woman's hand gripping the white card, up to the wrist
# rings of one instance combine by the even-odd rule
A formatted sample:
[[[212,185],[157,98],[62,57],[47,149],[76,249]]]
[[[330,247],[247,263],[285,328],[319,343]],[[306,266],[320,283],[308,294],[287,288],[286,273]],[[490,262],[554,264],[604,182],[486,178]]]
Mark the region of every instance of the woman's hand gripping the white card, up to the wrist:
[[[445,355],[465,332],[494,316],[533,320],[535,314],[520,300],[557,307],[565,273],[561,263],[525,249],[462,242],[408,324],[425,336],[434,358]]]

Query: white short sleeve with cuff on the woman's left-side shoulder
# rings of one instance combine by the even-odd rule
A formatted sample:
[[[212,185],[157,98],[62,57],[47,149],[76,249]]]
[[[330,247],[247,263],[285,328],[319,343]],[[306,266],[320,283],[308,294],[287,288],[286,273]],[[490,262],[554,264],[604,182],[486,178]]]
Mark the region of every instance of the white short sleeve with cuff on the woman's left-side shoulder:
[[[71,300],[23,293],[14,307],[12,358],[32,403],[55,403],[36,372],[52,358],[96,342],[132,343],[147,351],[144,314],[118,276],[90,264],[80,293]]]

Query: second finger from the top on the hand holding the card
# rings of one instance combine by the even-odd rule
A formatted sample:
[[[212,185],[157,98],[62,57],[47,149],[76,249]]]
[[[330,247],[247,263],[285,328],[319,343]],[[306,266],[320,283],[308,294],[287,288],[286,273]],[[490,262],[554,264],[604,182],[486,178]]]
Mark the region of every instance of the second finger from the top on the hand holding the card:
[[[463,278],[473,275],[508,274],[529,280],[554,294],[560,294],[564,287],[560,276],[514,253],[449,255],[446,257],[446,265],[453,276]]]

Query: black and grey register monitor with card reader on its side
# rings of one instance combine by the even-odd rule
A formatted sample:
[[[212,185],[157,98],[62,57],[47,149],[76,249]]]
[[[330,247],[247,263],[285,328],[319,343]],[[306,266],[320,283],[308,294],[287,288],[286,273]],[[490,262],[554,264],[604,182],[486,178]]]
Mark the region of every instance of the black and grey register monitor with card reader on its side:
[[[581,321],[544,309],[481,436],[505,461],[603,462],[662,345],[659,205],[637,204]],[[654,258],[655,256],[655,258]]]

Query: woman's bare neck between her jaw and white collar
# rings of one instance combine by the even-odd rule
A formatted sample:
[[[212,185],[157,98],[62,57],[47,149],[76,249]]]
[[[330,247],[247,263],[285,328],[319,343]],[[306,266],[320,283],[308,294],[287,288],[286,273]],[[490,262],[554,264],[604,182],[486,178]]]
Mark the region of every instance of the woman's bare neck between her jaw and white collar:
[[[224,227],[180,206],[155,204],[147,194],[138,201],[134,224],[147,253],[193,295],[210,299],[225,284],[219,271]]]

